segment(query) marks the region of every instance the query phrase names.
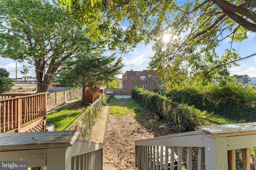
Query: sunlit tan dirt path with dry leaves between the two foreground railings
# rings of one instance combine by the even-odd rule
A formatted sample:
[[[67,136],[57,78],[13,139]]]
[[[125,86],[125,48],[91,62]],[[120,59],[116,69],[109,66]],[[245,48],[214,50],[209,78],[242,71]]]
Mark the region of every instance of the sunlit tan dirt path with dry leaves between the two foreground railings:
[[[104,157],[120,170],[135,169],[134,141],[154,137],[134,117],[108,115],[104,135]]]

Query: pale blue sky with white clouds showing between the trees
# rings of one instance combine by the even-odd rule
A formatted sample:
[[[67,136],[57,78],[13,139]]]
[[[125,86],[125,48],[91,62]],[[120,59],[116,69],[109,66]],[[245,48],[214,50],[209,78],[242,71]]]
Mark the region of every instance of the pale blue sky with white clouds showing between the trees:
[[[252,55],[253,53],[256,53],[256,34],[249,34],[248,37],[249,38],[247,40],[243,41],[242,43],[237,43],[233,46],[235,49],[238,49],[240,57],[246,57]],[[125,55],[116,53],[117,59],[119,57],[122,57],[122,62],[124,63],[122,72],[124,73],[126,71],[130,71],[131,69],[134,71],[146,70],[148,63],[150,62],[150,57],[154,56],[154,52],[152,51],[153,44],[154,42],[150,42],[150,44],[145,46],[144,42],[142,42],[136,48],[134,48],[134,51],[129,51]],[[224,49],[228,46],[229,44],[227,39],[222,43],[221,47],[217,49],[217,53],[219,55],[223,54]],[[111,55],[112,53],[113,52],[111,51],[106,51],[105,55]],[[29,65],[27,62],[17,63],[18,78],[24,76],[20,73],[23,64],[26,66]],[[249,77],[256,77],[256,57],[251,57],[250,59],[239,61],[238,64],[240,64],[240,66],[232,66],[232,68],[230,68],[231,74],[247,74]],[[11,78],[16,77],[16,61],[0,57],[0,67],[6,68],[6,70],[10,73]],[[29,69],[30,71],[28,76],[35,77],[35,69],[33,67]],[[122,78],[122,75],[119,75],[118,77]]]

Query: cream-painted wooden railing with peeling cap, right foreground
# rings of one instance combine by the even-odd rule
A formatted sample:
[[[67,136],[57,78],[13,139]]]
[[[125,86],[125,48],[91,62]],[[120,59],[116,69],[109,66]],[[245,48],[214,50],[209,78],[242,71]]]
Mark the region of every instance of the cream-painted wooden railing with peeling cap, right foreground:
[[[236,170],[235,150],[242,150],[239,168],[255,166],[250,161],[250,148],[256,147],[256,123],[200,126],[196,130],[135,141],[136,169],[182,170],[182,162],[186,162],[186,169],[192,170],[195,161],[197,170]],[[184,151],[186,158],[182,158]]]

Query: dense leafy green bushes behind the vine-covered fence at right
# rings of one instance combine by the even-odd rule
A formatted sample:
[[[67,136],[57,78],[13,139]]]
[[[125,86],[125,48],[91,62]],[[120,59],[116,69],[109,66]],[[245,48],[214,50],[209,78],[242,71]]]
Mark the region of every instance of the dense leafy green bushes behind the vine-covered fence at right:
[[[173,102],[186,103],[240,123],[256,121],[256,90],[249,85],[236,82],[206,86],[196,82],[184,83],[182,88],[173,88],[166,96]]]

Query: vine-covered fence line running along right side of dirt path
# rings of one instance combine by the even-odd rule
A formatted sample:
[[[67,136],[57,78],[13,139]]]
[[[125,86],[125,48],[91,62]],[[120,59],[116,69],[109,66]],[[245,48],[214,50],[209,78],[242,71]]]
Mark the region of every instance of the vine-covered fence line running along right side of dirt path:
[[[213,113],[200,111],[194,106],[174,102],[170,98],[166,97],[166,95],[148,92],[141,88],[134,88],[132,90],[132,98],[138,100],[142,107],[149,109],[151,112],[162,113],[162,116],[169,121],[169,125],[176,127],[175,129],[177,129],[178,132],[194,131],[196,123],[193,115],[205,117],[211,121],[216,121],[221,124],[235,123],[235,121],[230,119],[223,119],[219,116],[216,117]],[[196,119],[200,125],[214,125],[214,123],[210,121],[199,119],[198,117]]]

